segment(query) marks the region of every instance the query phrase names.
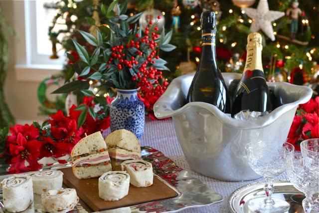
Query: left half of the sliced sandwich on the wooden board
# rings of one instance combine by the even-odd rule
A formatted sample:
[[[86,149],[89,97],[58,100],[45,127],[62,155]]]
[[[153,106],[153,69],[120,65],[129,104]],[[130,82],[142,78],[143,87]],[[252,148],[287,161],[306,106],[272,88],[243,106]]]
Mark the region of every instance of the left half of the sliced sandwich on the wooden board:
[[[72,149],[73,174],[78,179],[100,177],[112,171],[109,152],[101,132],[82,138]]]

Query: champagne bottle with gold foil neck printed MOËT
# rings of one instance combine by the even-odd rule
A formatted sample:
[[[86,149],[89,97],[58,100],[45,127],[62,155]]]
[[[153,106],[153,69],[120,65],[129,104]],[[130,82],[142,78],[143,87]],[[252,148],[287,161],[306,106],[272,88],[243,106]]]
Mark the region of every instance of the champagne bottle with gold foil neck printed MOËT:
[[[260,113],[272,110],[261,60],[262,49],[261,35],[257,32],[250,33],[247,38],[244,72],[233,96],[232,116],[242,110]]]

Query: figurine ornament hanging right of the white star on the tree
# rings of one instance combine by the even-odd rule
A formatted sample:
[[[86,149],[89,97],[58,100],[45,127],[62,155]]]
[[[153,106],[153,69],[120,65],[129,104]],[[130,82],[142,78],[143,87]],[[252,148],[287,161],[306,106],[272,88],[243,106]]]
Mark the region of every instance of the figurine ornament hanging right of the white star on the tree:
[[[305,12],[303,12],[299,7],[298,0],[294,0],[292,3],[292,7],[289,8],[286,12],[286,15],[290,17],[290,38],[292,40],[296,39],[296,33],[298,31],[298,18],[299,15],[305,16]]]

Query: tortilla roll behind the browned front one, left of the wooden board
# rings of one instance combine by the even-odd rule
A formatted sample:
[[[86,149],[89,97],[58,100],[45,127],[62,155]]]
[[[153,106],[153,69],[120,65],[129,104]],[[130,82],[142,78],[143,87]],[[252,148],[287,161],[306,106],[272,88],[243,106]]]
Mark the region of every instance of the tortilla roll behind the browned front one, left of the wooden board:
[[[31,174],[33,193],[43,195],[49,190],[62,189],[63,173],[61,171],[49,170]]]

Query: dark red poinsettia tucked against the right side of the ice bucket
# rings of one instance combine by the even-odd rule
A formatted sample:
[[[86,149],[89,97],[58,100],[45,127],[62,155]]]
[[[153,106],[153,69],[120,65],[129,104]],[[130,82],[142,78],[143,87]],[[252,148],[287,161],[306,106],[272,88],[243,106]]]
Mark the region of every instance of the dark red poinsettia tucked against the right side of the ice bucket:
[[[293,124],[291,125],[291,128],[288,133],[288,143],[291,143],[294,145],[296,150],[300,150],[300,143],[297,143],[302,139],[302,129],[303,129],[303,123],[302,123],[303,117],[296,115],[293,120]]]

